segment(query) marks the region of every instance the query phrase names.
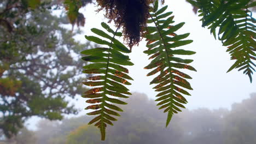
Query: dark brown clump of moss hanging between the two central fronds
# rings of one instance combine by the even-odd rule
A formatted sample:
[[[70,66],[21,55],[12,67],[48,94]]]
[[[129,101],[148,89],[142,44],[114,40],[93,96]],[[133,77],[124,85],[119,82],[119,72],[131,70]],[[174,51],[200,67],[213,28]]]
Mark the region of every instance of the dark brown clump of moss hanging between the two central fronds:
[[[123,27],[124,40],[131,48],[141,41],[142,27],[147,26],[149,0],[97,0],[100,10],[114,21],[116,26]]]

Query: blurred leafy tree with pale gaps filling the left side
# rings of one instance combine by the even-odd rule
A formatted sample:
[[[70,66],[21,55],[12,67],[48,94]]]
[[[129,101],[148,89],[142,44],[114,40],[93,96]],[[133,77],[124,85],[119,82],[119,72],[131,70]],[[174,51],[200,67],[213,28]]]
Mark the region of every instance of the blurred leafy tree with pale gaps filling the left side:
[[[82,62],[77,54],[90,44],[75,41],[79,31],[62,26],[68,23],[62,1],[0,2],[0,130],[4,136],[18,134],[31,116],[53,120],[77,113],[69,103],[82,94]]]

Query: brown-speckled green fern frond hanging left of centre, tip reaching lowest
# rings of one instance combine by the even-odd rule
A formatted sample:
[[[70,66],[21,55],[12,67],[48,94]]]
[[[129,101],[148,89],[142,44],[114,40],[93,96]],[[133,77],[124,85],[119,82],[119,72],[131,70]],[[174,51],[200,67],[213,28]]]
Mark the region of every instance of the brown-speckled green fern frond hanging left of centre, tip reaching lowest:
[[[126,104],[117,98],[128,98],[127,94],[131,94],[124,85],[131,85],[127,80],[132,80],[132,78],[127,75],[129,71],[121,65],[133,65],[133,63],[130,62],[129,56],[123,54],[130,53],[130,50],[114,38],[122,35],[117,32],[119,27],[114,32],[106,23],[102,22],[101,25],[113,36],[100,29],[92,28],[91,31],[98,36],[85,36],[85,38],[108,47],[97,47],[81,53],[87,55],[82,58],[84,61],[92,62],[84,67],[83,73],[97,74],[89,77],[89,81],[84,82],[84,85],[93,87],[83,95],[84,98],[89,98],[86,103],[92,104],[85,109],[94,110],[87,113],[90,116],[97,115],[89,124],[96,123],[95,126],[101,131],[101,140],[104,140],[107,124],[113,125],[111,121],[117,121],[110,115],[120,116],[116,111],[123,111],[114,104]]]

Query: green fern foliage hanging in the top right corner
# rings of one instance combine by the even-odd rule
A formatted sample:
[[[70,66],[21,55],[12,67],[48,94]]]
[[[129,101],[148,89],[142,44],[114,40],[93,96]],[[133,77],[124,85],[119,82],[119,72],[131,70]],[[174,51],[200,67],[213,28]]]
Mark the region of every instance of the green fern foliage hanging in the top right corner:
[[[249,76],[252,82],[253,71],[256,65],[255,19],[249,10],[255,7],[256,2],[250,0],[189,0],[199,8],[202,16],[202,27],[211,29],[214,38],[222,41],[223,46],[228,46],[227,52],[235,63],[227,71],[237,68],[238,71]],[[218,28],[218,33],[216,33]]]

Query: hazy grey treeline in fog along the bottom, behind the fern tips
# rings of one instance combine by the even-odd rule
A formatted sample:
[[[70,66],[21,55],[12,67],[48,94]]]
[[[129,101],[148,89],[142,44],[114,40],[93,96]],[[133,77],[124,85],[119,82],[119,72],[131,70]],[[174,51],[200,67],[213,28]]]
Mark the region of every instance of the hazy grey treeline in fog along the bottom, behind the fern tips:
[[[62,123],[40,121],[38,130],[31,132],[36,144],[76,143],[181,143],[226,144],[255,143],[256,93],[232,105],[231,110],[200,108],[185,110],[173,117],[167,129],[163,127],[164,113],[154,108],[154,101],[145,94],[133,93],[115,127],[110,127],[107,139],[100,141],[100,132],[89,122],[90,116],[64,119]],[[242,111],[242,112],[241,112]]]

